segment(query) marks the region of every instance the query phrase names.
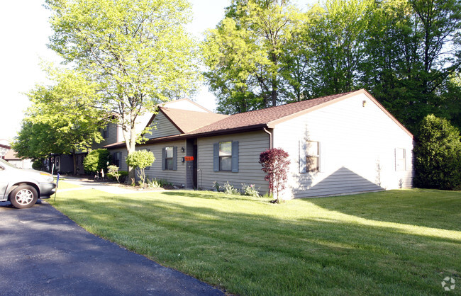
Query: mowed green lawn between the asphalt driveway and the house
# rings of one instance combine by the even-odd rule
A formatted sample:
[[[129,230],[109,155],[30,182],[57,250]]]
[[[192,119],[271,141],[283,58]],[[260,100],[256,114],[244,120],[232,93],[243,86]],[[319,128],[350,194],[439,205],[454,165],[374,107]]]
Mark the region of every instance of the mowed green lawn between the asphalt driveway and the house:
[[[201,191],[79,190],[52,204],[89,232],[233,294],[442,295],[446,276],[461,294],[461,192],[274,205]]]

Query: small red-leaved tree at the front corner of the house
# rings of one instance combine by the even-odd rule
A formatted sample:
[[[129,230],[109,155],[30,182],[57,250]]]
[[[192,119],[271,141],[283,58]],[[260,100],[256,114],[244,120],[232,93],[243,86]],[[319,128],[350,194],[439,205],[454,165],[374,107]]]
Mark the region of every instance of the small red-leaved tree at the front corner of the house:
[[[290,161],[288,153],[283,149],[266,149],[260,154],[262,171],[267,173],[265,180],[269,181],[269,192],[275,195],[277,203],[280,203],[279,193],[285,188],[287,171]]]

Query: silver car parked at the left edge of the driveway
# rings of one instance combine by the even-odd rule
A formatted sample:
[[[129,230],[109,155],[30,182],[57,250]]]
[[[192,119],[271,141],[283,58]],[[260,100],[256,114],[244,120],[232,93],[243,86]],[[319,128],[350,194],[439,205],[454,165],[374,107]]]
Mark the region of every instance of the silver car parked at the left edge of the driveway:
[[[32,207],[38,198],[50,198],[56,183],[50,173],[33,169],[18,169],[0,159],[0,201],[8,201],[23,209]]]

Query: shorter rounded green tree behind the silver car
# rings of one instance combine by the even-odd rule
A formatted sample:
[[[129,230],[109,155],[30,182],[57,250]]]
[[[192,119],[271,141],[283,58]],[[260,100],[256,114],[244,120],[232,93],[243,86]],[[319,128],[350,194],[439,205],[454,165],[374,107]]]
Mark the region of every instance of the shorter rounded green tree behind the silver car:
[[[81,73],[52,67],[47,72],[54,85],[35,86],[28,93],[32,105],[27,110],[26,120],[37,128],[48,127],[49,135],[39,134],[43,144],[49,147],[49,153],[72,154],[74,173],[77,173],[76,153],[86,152],[91,144],[102,140],[99,128],[109,123],[110,116],[97,108],[97,86]]]

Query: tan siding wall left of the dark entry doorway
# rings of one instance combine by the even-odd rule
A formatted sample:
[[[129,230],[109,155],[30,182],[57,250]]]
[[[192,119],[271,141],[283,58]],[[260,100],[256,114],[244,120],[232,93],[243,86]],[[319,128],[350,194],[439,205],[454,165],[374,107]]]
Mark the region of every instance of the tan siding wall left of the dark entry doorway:
[[[177,170],[162,170],[162,148],[165,147],[177,147]],[[182,157],[186,156],[185,152],[181,151],[181,148],[186,148],[186,140],[174,141],[174,142],[163,142],[160,144],[142,145],[136,147],[136,150],[150,149],[155,156],[155,161],[149,169],[145,170],[145,175],[148,178],[164,179],[173,183],[176,186],[186,186],[186,166],[188,161],[182,162]]]

